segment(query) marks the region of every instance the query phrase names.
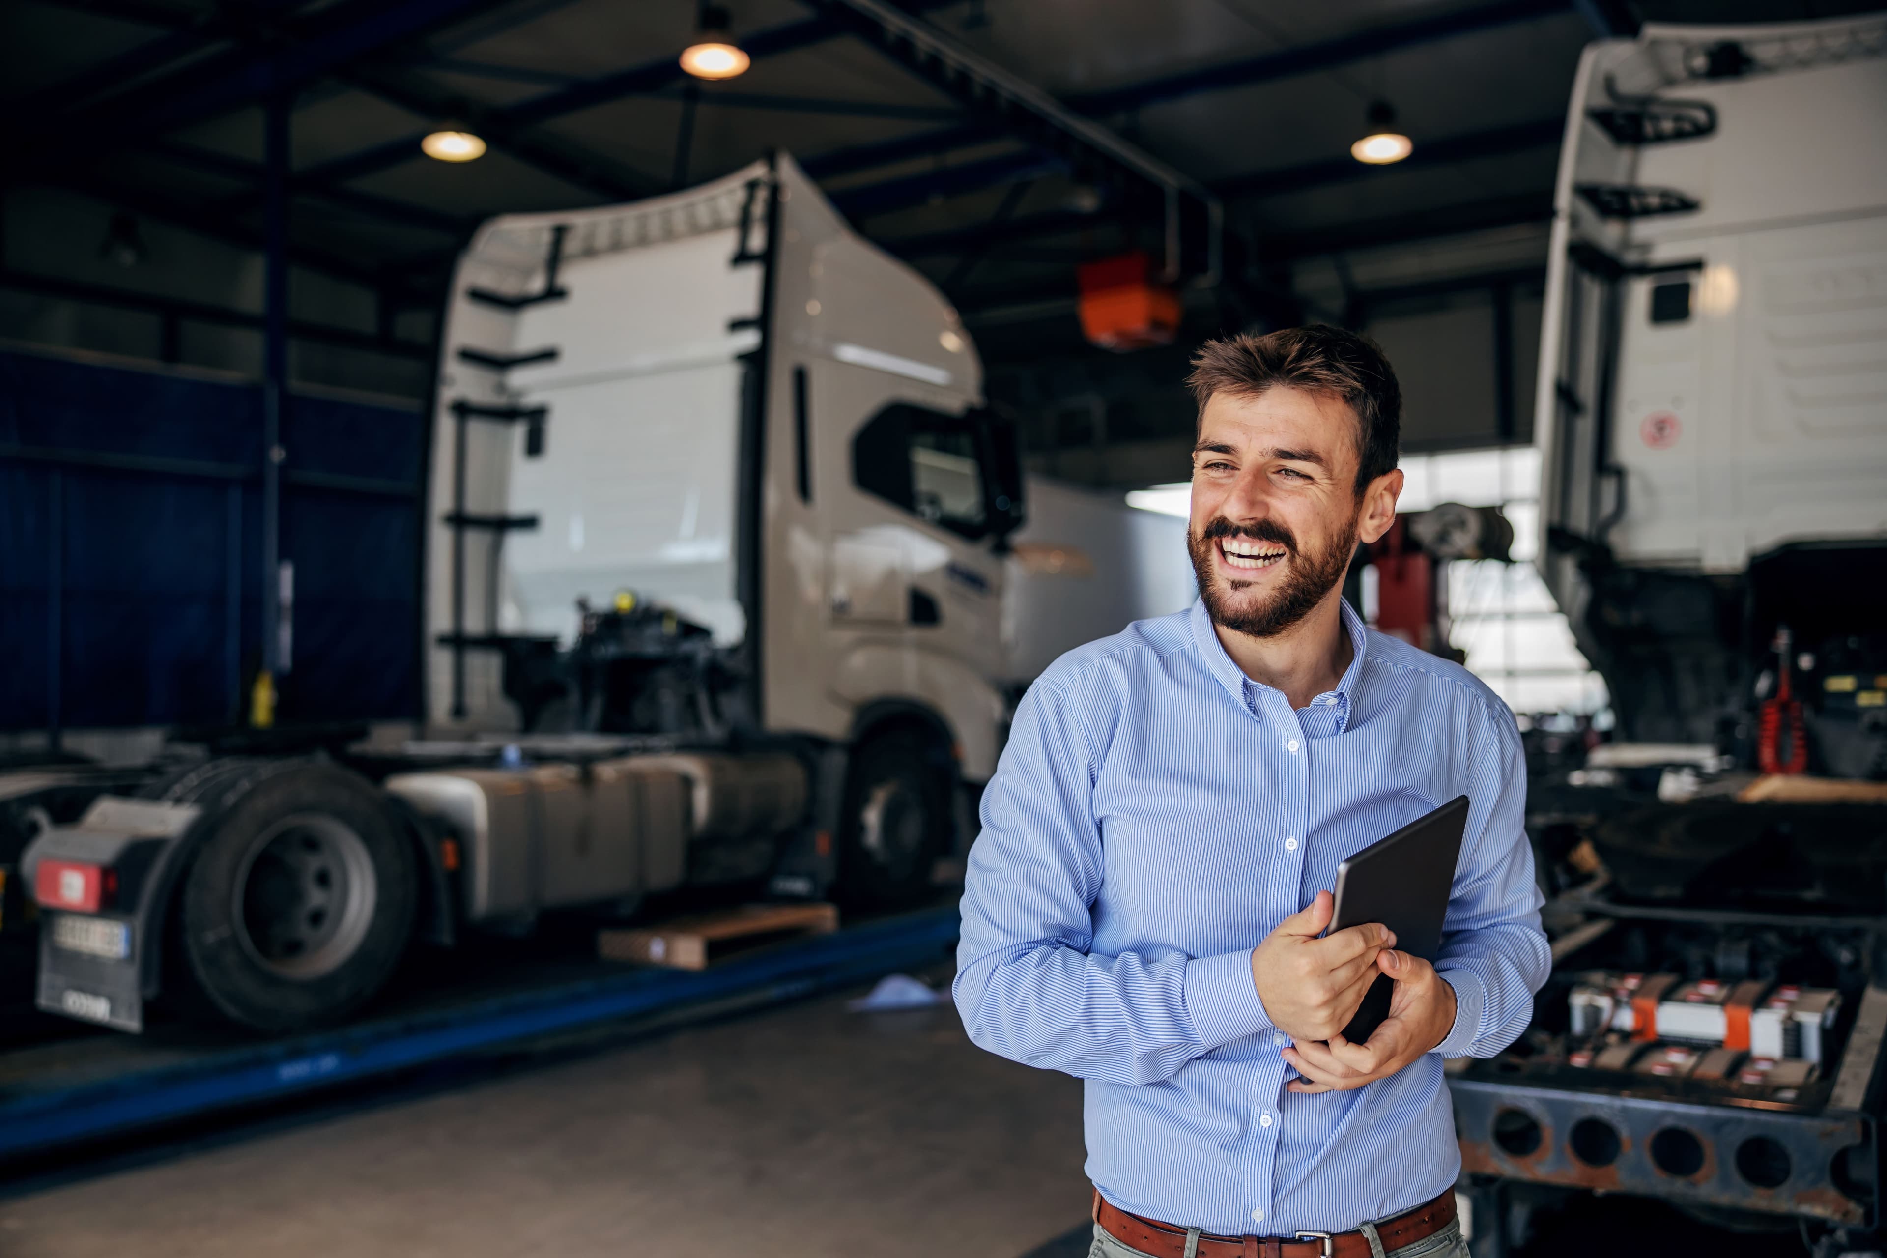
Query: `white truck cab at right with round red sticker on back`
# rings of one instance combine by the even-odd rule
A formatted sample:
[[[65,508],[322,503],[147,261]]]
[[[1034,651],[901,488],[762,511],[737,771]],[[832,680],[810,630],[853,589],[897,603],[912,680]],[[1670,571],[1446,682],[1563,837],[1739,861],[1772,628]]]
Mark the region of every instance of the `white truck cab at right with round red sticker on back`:
[[[1887,15],[1587,47],[1540,362],[1540,564],[1625,737],[1749,739],[1781,626],[1808,683],[1887,664]]]

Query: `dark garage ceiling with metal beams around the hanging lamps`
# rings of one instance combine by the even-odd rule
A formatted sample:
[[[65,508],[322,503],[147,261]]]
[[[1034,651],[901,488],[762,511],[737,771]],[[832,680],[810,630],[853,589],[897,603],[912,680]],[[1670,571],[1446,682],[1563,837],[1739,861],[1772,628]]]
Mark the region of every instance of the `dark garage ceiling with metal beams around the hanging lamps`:
[[[900,8],[1210,185],[1227,206],[1232,287],[1249,306],[1283,258],[1544,219],[1572,68],[1600,30],[1842,6]],[[487,215],[660,192],[768,149],[794,153],[868,236],[970,315],[1068,292],[1074,262],[1132,238],[1130,198],[911,74],[849,6],[730,9],[753,68],[696,83],[676,64],[693,41],[691,0],[25,0],[0,17],[9,179],[253,245],[264,230],[262,106],[287,91],[296,260],[419,307],[438,302]],[[1378,98],[1415,140],[1398,166],[1347,155]],[[445,117],[462,117],[491,153],[459,166],[423,157],[419,138]]]

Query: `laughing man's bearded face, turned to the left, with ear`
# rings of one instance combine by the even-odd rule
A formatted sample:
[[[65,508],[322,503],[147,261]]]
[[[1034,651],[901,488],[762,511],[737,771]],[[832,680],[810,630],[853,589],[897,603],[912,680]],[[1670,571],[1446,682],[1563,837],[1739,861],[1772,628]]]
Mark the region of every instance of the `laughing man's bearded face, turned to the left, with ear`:
[[[1383,536],[1402,473],[1359,498],[1359,436],[1355,411],[1330,394],[1274,387],[1206,402],[1187,549],[1213,624],[1289,630],[1344,579],[1359,536]]]

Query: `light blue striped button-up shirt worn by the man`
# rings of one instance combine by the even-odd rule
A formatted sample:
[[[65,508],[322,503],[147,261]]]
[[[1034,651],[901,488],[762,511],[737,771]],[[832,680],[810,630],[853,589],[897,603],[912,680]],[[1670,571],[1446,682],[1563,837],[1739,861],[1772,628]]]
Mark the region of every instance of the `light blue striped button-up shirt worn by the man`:
[[[1087,1173],[1121,1209],[1221,1235],[1342,1232],[1455,1183],[1442,1058],[1525,1030],[1549,954],[1521,830],[1527,766],[1472,673],[1366,630],[1293,711],[1200,604],[1064,654],[983,792],[957,1009],[1002,1056],[1087,1081]],[[1455,1026],[1349,1092],[1298,1094],[1251,949],[1340,860],[1466,794],[1436,969]]]

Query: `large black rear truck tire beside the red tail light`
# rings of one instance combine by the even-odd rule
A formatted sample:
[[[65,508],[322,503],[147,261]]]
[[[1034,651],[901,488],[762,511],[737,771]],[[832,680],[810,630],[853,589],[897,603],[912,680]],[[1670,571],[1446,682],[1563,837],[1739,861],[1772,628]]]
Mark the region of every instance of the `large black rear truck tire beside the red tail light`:
[[[172,973],[270,1035],[343,1020],[413,934],[413,852],[387,803],[323,760],[223,762],[170,785],[204,809],[174,905]]]

